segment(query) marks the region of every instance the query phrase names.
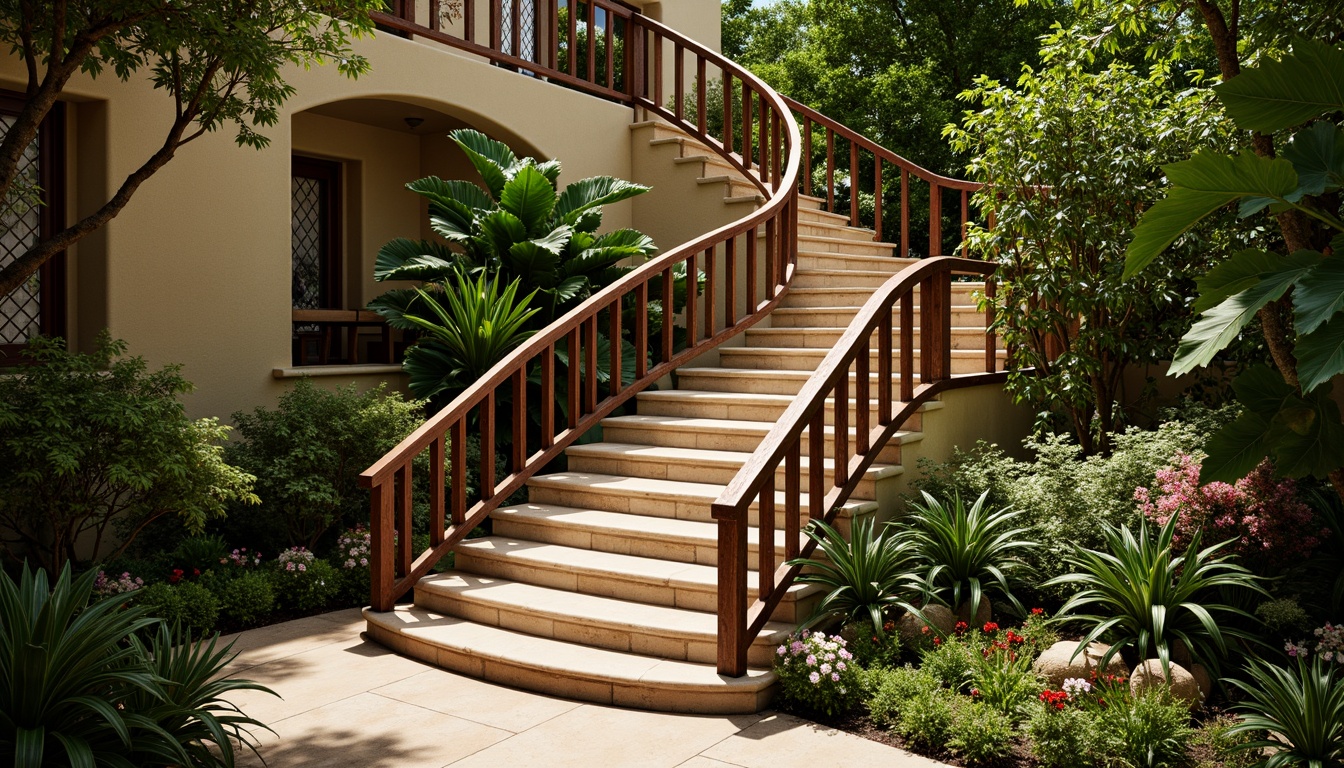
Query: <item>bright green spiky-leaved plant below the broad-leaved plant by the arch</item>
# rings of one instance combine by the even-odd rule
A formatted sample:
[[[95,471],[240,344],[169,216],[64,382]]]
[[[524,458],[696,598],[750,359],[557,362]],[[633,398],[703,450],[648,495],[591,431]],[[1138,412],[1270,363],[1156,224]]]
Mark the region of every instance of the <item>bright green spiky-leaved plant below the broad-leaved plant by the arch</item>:
[[[536,291],[519,297],[519,282],[513,280],[500,291],[500,278],[487,278],[484,270],[476,280],[457,272],[445,284],[442,304],[430,292],[415,289],[434,315],[434,320],[406,315],[406,320],[425,332],[406,352],[406,373],[415,397],[430,399],[444,391],[462,390],[532,335],[527,321],[540,309],[528,304]]]

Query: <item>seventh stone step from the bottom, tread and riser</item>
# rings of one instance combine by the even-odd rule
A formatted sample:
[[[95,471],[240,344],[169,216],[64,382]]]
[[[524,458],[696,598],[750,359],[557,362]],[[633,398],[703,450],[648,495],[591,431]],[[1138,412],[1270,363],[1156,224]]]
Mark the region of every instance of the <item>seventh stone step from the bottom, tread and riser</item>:
[[[761,444],[773,422],[734,421],[727,418],[687,418],[680,416],[616,416],[602,420],[602,434],[613,443],[632,445],[665,445],[669,448],[700,448],[706,451],[735,451],[750,453]],[[835,457],[835,428],[827,426],[823,456]],[[849,428],[849,445],[853,447],[855,430]],[[915,443],[923,434],[919,432],[896,432],[878,452],[875,461],[882,464],[900,463],[900,445]],[[810,440],[802,436],[802,453],[806,455]]]

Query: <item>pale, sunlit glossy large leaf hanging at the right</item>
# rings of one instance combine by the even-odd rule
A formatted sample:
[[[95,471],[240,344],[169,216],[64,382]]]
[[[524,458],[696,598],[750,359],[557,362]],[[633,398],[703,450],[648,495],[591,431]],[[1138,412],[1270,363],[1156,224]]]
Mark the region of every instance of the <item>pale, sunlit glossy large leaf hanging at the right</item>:
[[[1316,252],[1294,253],[1282,261],[1278,272],[1262,276],[1251,288],[1206,311],[1189,332],[1181,336],[1168,375],[1177,377],[1207,366],[1214,355],[1241,334],[1261,308],[1284,296],[1320,258],[1321,254]]]

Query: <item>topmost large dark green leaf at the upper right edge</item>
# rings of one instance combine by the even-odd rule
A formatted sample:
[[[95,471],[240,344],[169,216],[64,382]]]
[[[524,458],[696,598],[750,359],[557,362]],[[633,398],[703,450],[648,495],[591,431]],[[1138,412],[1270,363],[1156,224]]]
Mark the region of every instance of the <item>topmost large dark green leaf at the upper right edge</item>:
[[[1344,50],[1298,39],[1293,52],[1243,70],[1214,93],[1238,126],[1282,130],[1344,109]]]

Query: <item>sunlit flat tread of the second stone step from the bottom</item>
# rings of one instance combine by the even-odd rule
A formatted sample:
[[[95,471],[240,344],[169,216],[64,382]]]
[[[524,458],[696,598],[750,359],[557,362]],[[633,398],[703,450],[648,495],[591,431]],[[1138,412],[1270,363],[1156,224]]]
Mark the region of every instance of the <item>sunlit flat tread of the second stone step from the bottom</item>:
[[[699,643],[714,643],[718,638],[719,617],[715,613],[687,611],[671,605],[630,603],[629,600],[566,592],[456,570],[426,576],[415,585],[415,604],[423,604],[431,609],[434,605],[427,601],[422,603],[422,592],[496,611],[526,613],[551,621],[575,623],[599,629],[642,632]],[[761,629],[755,643],[778,646],[793,629],[792,624],[770,621]]]

